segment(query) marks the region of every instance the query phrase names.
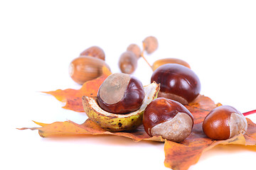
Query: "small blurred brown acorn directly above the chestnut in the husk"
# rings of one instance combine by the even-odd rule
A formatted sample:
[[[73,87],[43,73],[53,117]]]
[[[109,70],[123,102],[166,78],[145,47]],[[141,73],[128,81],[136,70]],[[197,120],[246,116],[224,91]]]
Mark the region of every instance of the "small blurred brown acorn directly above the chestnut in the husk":
[[[138,59],[134,52],[127,51],[119,57],[118,66],[122,73],[132,74],[137,68],[137,62]]]

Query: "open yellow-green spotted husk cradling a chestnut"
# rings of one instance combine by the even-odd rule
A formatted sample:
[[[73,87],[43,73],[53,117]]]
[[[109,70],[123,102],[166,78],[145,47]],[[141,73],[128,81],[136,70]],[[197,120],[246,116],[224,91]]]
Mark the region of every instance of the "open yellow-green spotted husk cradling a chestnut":
[[[82,96],[82,106],[85,113],[94,123],[110,132],[135,130],[142,125],[142,117],[146,106],[156,98],[160,85],[153,82],[143,87],[145,97],[142,106],[134,112],[126,114],[109,113],[103,110],[97,103],[97,98]]]

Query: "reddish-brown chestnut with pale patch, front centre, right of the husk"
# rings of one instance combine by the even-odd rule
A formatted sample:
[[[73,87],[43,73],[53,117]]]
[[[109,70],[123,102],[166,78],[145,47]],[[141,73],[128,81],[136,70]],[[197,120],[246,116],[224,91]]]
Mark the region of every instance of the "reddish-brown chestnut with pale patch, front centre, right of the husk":
[[[191,134],[193,115],[177,101],[156,98],[146,106],[142,122],[149,136],[182,142]]]

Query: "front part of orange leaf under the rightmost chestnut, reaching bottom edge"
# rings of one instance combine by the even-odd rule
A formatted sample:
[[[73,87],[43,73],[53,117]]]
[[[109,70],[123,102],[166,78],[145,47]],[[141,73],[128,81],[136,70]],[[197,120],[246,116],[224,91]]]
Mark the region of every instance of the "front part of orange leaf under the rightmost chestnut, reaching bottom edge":
[[[245,145],[256,149],[256,124],[247,118],[248,130],[245,135],[237,135],[228,140],[211,140],[202,130],[202,123],[194,125],[191,135],[181,143],[166,140],[164,143],[166,167],[174,170],[186,170],[196,164],[203,152],[216,145]]]

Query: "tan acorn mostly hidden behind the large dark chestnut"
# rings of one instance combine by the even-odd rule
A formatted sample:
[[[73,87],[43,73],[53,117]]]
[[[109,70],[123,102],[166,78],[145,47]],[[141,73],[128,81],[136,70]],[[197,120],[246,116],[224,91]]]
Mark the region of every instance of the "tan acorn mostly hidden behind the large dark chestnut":
[[[189,69],[191,69],[190,65],[185,62],[184,60],[181,60],[181,59],[177,59],[177,58],[164,58],[164,59],[160,59],[160,60],[156,60],[152,67],[153,67],[153,71],[155,71],[158,67],[160,67],[161,65],[164,65],[164,64],[181,64],[185,67],[188,67]]]

